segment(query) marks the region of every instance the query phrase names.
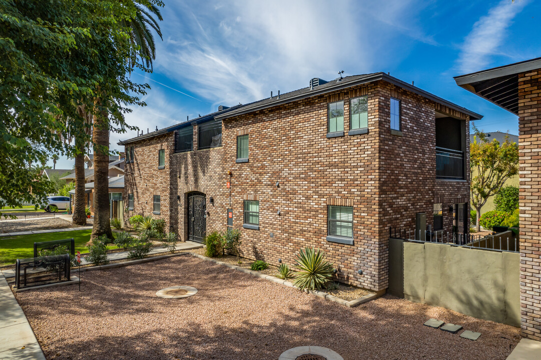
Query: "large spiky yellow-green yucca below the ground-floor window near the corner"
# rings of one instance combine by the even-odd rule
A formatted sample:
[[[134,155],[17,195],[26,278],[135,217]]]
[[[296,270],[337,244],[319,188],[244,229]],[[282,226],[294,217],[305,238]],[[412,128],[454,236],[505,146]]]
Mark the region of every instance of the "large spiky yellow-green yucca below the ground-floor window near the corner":
[[[299,271],[295,271],[293,283],[301,290],[320,290],[333,276],[333,265],[325,260],[325,252],[320,249],[301,249],[295,261]]]

